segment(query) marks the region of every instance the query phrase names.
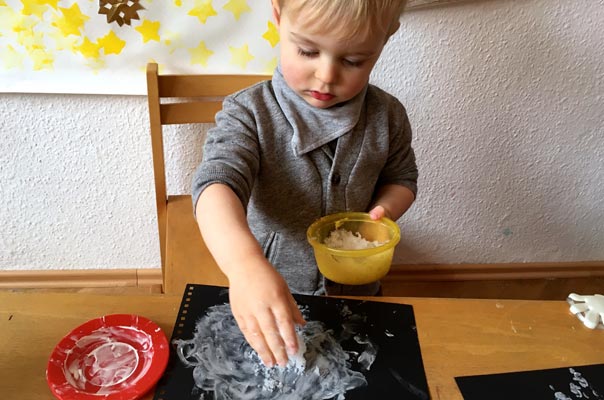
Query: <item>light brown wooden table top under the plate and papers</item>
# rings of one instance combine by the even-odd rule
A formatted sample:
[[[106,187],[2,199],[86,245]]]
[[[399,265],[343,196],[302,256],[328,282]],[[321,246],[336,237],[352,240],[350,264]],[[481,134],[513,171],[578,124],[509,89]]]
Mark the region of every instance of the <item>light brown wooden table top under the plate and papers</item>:
[[[45,380],[52,349],[73,328],[101,315],[145,316],[169,338],[180,300],[0,292],[0,397],[52,399]],[[375,300],[413,305],[432,399],[461,399],[456,376],[604,363],[604,330],[584,327],[562,301]]]

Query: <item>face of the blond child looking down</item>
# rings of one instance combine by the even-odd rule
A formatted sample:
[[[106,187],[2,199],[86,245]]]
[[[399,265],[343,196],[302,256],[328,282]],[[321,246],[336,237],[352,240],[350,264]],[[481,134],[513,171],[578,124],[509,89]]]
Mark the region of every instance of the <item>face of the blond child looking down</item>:
[[[290,19],[287,7],[280,13],[276,3],[273,14],[281,36],[281,69],[289,87],[318,108],[345,102],[363,90],[386,43],[391,17],[384,16],[383,27],[343,38],[340,33],[309,30],[309,24],[301,23],[306,22],[304,11]]]

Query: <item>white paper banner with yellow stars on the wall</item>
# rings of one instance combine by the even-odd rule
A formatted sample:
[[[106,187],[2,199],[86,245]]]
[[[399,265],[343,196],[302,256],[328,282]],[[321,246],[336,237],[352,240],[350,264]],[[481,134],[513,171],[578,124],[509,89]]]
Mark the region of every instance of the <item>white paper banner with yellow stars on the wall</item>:
[[[0,0],[0,92],[145,94],[160,73],[272,73],[268,0]]]

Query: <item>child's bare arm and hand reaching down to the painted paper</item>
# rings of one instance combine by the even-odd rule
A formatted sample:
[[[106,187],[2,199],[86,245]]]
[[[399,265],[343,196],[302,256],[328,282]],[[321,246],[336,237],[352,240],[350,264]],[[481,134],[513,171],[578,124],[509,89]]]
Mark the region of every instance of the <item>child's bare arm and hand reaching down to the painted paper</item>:
[[[285,349],[298,350],[295,324],[305,322],[287,283],[252,235],[241,201],[228,186],[212,184],[201,193],[195,215],[229,280],[231,309],[246,340],[265,365],[285,366]]]

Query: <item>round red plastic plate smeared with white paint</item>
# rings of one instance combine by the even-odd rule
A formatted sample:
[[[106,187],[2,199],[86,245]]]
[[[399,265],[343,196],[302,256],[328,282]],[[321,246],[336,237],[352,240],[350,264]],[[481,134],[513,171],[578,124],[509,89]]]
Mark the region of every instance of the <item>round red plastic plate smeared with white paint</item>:
[[[166,335],[153,321],[106,315],[78,326],[57,344],[46,380],[60,400],[133,400],[157,383],[169,353]]]

